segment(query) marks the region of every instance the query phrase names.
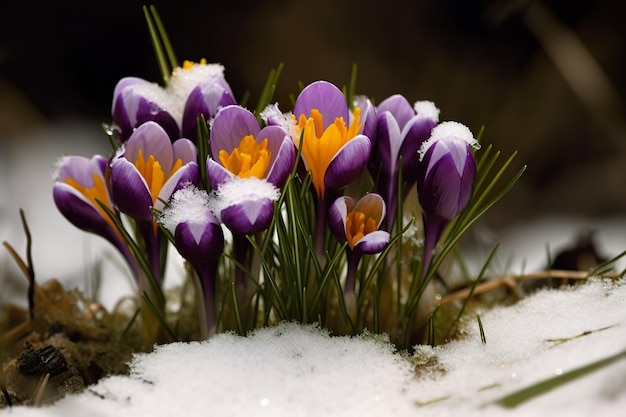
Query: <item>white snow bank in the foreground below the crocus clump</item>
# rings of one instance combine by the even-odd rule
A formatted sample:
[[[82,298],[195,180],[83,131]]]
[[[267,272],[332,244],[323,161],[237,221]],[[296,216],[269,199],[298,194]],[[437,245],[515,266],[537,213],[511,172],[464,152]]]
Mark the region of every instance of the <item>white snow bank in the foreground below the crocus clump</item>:
[[[418,374],[381,336],[333,337],[283,323],[247,337],[219,334],[136,355],[128,377],[0,415],[47,416],[541,416],[622,415],[626,407],[626,285],[593,279],[542,290],[480,313],[462,340],[418,347]],[[516,407],[508,395],[606,358]],[[419,369],[419,368],[418,368]],[[558,381],[557,381],[558,382]]]

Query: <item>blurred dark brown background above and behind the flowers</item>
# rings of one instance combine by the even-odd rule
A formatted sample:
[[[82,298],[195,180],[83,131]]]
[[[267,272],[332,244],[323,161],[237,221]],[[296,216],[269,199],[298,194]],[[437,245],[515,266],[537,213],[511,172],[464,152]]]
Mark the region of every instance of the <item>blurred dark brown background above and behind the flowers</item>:
[[[108,121],[124,76],[159,81],[138,1],[14,1],[0,11],[0,144],[34,126]],[[226,67],[255,103],[285,63],[298,82],[428,99],[529,165],[492,222],[626,210],[626,3],[511,1],[155,1],[180,61]],[[100,137],[97,134],[92,137]]]

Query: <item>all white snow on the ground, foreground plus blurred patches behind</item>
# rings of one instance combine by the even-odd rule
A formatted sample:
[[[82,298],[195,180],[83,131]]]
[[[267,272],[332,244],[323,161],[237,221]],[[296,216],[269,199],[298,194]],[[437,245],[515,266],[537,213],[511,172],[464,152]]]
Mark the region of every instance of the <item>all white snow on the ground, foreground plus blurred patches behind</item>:
[[[27,147],[0,143],[0,191],[10,196],[0,200],[0,240],[23,253],[17,214],[23,207],[39,279],[58,277],[68,287],[82,287],[89,281],[89,262],[102,253],[115,260],[116,254],[58,214],[51,173],[64,153],[90,156],[107,149],[98,148],[103,139],[94,137],[97,132],[55,129],[33,135]],[[522,262],[526,271],[535,270],[546,259],[546,245],[558,250],[583,228],[596,230],[604,256],[626,249],[624,219],[552,218],[502,231],[502,259],[515,256],[515,269]],[[3,252],[5,274],[11,263]],[[130,291],[124,278],[107,288],[105,305]],[[0,302],[15,297],[22,295],[3,288]],[[469,317],[462,341],[418,349],[431,366],[417,375],[414,364],[380,338],[330,337],[315,327],[284,324],[246,338],[222,334],[204,343],[162,346],[137,356],[130,377],[105,379],[51,407],[14,408],[0,415],[623,415],[624,283],[597,280],[545,290],[512,307],[484,311],[480,318],[486,344],[476,317]],[[550,390],[544,387],[543,395],[529,394],[511,407],[518,398],[513,394],[546,380],[553,382]]]

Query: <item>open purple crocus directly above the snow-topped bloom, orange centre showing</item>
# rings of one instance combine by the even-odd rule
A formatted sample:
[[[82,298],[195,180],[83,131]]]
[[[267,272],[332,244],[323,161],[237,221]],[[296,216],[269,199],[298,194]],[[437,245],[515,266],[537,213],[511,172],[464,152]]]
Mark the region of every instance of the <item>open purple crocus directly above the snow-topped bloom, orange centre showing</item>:
[[[212,188],[234,177],[265,179],[282,187],[293,168],[296,149],[278,125],[261,129],[256,117],[241,106],[221,109],[211,125],[207,177]]]

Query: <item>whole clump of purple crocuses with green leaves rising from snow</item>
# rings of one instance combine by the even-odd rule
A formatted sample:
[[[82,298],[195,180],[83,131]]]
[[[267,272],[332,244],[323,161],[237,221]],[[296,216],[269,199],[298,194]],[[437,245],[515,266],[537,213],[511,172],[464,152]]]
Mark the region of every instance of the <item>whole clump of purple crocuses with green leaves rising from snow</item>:
[[[183,337],[167,327],[163,292],[173,248],[196,288],[200,324],[188,338],[298,320],[419,342],[407,335],[420,297],[476,194],[470,130],[400,94],[375,105],[316,81],[290,111],[269,97],[250,110],[219,64],[163,75],[164,86],[120,80],[107,129],[115,149],[62,158],[53,190],[71,223],[127,261],[138,305],[166,327],[153,341]],[[407,201],[414,187],[418,201]],[[412,225],[421,240],[406,260],[398,245]]]

